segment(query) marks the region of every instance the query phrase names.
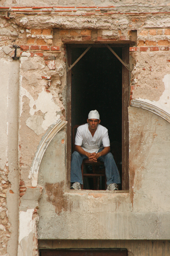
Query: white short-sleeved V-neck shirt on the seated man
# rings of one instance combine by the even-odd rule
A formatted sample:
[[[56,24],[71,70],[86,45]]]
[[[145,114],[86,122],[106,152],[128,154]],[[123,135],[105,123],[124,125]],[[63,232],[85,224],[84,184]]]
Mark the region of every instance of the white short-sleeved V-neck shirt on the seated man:
[[[97,130],[92,137],[88,124],[83,124],[77,128],[75,145],[81,146],[86,152],[97,153],[100,148],[110,146],[108,130],[98,124]]]

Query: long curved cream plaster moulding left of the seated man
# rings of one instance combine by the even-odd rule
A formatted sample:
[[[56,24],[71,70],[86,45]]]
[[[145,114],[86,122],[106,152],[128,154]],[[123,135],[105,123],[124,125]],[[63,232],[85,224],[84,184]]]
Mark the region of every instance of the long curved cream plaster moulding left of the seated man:
[[[41,144],[39,145],[39,148],[35,154],[35,158],[33,160],[33,164],[31,166],[29,179],[32,179],[31,183],[33,187],[37,186],[38,181],[38,172],[39,172],[39,166],[41,164],[41,160],[43,158],[43,155],[45,153],[45,150],[47,149],[48,145],[50,144],[51,140],[54,138],[54,136],[61,131],[65,126],[67,122],[64,120],[59,120],[53,128],[51,128],[50,131],[45,135],[43,138]]]

